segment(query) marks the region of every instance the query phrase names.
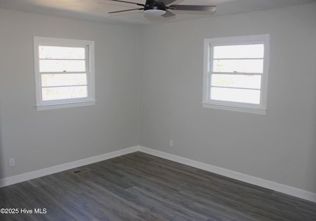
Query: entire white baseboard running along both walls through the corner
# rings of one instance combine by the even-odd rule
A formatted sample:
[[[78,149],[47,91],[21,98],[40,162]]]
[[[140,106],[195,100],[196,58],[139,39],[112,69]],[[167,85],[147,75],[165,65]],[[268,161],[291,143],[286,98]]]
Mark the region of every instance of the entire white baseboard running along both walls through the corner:
[[[158,150],[147,148],[144,146],[133,146],[133,147],[125,148],[122,150],[114,151],[111,153],[106,153],[106,154],[102,154],[102,155],[98,155],[98,156],[94,156],[94,157],[89,157],[89,158],[85,158],[82,160],[57,165],[54,167],[44,168],[44,169],[41,169],[38,171],[33,171],[33,172],[25,173],[25,174],[12,176],[12,177],[6,177],[3,179],[0,179],[0,187],[11,185],[11,184],[18,183],[18,182],[27,181],[27,180],[38,178],[38,177],[43,177],[46,175],[58,173],[58,172],[65,171],[65,170],[74,169],[77,167],[82,167],[82,166],[85,166],[88,164],[100,162],[103,160],[108,160],[108,159],[111,159],[114,157],[133,153],[136,151],[141,151],[141,152],[148,153],[148,154],[151,154],[151,155],[154,155],[157,157],[161,157],[161,158],[164,158],[167,160],[171,160],[171,161],[185,164],[188,166],[192,166],[192,167],[195,167],[195,168],[198,168],[201,170],[205,170],[208,172],[219,174],[219,175],[222,175],[225,177],[234,178],[234,179],[237,179],[240,181],[244,181],[244,182],[251,183],[251,184],[254,184],[257,186],[272,189],[272,190],[275,190],[275,191],[278,191],[281,193],[285,193],[285,194],[288,194],[291,196],[295,196],[295,197],[306,199],[306,200],[309,200],[312,202],[316,202],[316,193],[313,193],[313,192],[309,192],[309,191],[306,191],[303,189],[299,189],[299,188],[295,188],[292,186],[280,184],[280,183],[273,182],[273,181],[266,180],[266,179],[262,179],[259,177],[252,177],[249,175],[245,175],[245,174],[241,174],[241,173],[238,173],[235,171],[216,167],[216,166],[213,166],[210,164],[201,163],[201,162],[191,160],[188,158],[179,157],[177,155],[169,154],[166,152],[158,151]]]

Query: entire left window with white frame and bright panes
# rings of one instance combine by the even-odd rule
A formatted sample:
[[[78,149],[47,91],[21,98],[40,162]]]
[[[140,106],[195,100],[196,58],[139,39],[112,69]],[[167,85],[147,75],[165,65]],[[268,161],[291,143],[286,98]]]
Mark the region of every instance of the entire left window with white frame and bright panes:
[[[34,37],[37,110],[95,104],[94,42]]]

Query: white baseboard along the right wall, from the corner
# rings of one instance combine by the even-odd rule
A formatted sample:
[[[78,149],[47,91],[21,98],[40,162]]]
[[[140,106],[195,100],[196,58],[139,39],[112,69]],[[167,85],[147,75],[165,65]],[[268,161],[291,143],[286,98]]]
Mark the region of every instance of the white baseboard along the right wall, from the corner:
[[[161,152],[161,151],[150,149],[150,148],[143,147],[143,146],[139,146],[138,149],[141,152],[148,153],[148,154],[151,154],[151,155],[154,155],[157,157],[161,157],[161,158],[164,158],[167,160],[175,161],[175,162],[178,162],[181,164],[192,166],[192,167],[195,167],[195,168],[198,168],[201,170],[205,170],[208,172],[212,172],[215,174],[219,174],[219,175],[222,175],[225,177],[234,178],[234,179],[237,179],[237,180],[240,180],[243,182],[247,182],[250,184],[254,184],[254,185],[268,188],[271,190],[275,190],[277,192],[285,193],[285,194],[288,194],[291,196],[295,196],[295,197],[306,199],[306,200],[309,200],[312,202],[316,202],[316,193],[309,192],[309,191],[306,191],[303,189],[299,189],[296,187],[280,184],[280,183],[273,182],[273,181],[270,181],[267,179],[262,179],[259,177],[252,177],[252,176],[241,174],[241,173],[238,173],[235,171],[216,167],[216,166],[213,166],[210,164],[201,163],[198,161],[190,160],[190,159],[187,159],[184,157],[179,157],[177,155]]]

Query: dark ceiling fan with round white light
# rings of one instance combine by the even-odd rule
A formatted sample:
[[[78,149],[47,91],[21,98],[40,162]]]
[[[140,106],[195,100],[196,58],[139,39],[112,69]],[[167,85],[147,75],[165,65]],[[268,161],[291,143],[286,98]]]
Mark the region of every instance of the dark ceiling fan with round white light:
[[[184,11],[210,11],[213,12],[216,10],[216,6],[213,5],[189,5],[189,4],[171,4],[176,0],[146,0],[145,4],[130,2],[130,1],[123,1],[123,0],[114,0],[120,2],[126,2],[131,4],[137,4],[139,6],[143,6],[142,8],[133,8],[127,10],[120,10],[120,11],[112,11],[109,13],[118,13],[123,11],[132,11],[132,10],[144,10],[145,13],[154,15],[154,16],[163,16],[163,17],[170,17],[174,16],[175,14],[170,12],[170,10],[184,10]],[[167,6],[168,5],[168,6]]]

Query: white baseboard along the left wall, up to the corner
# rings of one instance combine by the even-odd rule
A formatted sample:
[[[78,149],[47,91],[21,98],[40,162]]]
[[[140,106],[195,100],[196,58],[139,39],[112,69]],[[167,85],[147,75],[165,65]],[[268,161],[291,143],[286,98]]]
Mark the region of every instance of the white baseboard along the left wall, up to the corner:
[[[38,178],[38,177],[43,177],[46,175],[50,175],[50,174],[54,174],[54,173],[58,173],[58,172],[62,172],[62,171],[70,170],[70,169],[74,169],[77,167],[82,167],[82,166],[85,166],[88,164],[93,164],[93,163],[96,163],[99,161],[108,160],[108,159],[111,159],[114,157],[122,156],[124,154],[133,153],[135,151],[138,151],[138,149],[139,149],[138,146],[133,146],[133,147],[125,148],[122,150],[118,150],[118,151],[105,153],[105,154],[101,154],[101,155],[94,156],[94,157],[89,157],[89,158],[73,161],[73,162],[66,163],[66,164],[61,164],[61,165],[57,165],[57,166],[53,166],[53,167],[44,168],[44,169],[41,169],[38,171],[32,171],[32,172],[25,173],[25,174],[19,174],[19,175],[12,176],[12,177],[6,177],[3,179],[0,179],[0,187],[8,186],[8,185],[15,184],[18,182],[27,181],[27,180]]]

